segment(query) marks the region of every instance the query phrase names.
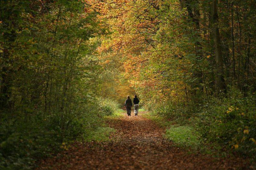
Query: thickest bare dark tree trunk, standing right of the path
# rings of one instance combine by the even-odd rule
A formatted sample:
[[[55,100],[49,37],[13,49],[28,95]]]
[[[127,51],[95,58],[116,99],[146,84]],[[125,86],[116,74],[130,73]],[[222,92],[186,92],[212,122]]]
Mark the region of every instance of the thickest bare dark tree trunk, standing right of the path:
[[[226,84],[223,78],[223,58],[220,47],[220,31],[218,27],[218,0],[212,0],[212,36],[215,48],[215,92],[226,93]]]

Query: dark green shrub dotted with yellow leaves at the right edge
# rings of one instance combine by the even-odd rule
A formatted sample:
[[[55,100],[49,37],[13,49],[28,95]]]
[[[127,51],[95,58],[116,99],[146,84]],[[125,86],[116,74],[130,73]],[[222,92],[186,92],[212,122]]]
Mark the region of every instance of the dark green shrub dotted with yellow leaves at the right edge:
[[[205,102],[195,122],[206,141],[234,149],[244,156],[256,154],[256,97],[231,89],[227,98]]]

